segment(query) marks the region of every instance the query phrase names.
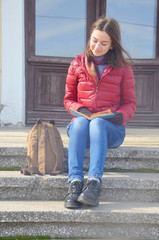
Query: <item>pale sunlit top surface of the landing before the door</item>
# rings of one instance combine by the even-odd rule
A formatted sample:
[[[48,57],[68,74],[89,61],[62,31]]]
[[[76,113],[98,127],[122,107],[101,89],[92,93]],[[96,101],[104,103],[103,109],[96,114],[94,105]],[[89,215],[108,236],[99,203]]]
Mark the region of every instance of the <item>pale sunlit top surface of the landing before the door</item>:
[[[68,145],[66,128],[58,128],[64,146]],[[27,135],[31,128],[0,128],[0,147],[27,146]],[[123,146],[159,147],[159,128],[127,128]]]

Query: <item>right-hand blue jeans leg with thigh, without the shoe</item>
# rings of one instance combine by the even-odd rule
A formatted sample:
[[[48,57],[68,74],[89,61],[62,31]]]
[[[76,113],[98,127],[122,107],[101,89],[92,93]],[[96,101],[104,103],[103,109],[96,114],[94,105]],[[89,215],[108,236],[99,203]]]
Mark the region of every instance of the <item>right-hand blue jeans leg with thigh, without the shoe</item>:
[[[125,138],[125,127],[102,118],[90,122],[90,168],[88,178],[102,178],[107,148],[119,147]]]

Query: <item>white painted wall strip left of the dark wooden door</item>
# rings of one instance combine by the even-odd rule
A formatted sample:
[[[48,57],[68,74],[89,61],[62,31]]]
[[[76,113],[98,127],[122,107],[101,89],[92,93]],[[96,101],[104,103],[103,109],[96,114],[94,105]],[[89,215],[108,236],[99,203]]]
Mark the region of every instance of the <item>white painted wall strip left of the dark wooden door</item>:
[[[1,1],[1,126],[22,126],[25,123],[24,0]]]

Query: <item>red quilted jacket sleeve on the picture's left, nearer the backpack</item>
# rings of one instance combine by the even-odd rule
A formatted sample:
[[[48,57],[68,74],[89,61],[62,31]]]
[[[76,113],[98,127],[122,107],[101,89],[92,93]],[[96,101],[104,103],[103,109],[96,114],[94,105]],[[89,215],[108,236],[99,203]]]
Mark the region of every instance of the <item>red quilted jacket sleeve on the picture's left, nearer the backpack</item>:
[[[68,74],[66,78],[64,106],[70,114],[71,114],[71,112],[69,111],[70,107],[75,110],[79,109],[80,107],[83,107],[81,103],[77,102],[77,86],[78,86],[77,68],[78,63],[75,59],[68,69]]]

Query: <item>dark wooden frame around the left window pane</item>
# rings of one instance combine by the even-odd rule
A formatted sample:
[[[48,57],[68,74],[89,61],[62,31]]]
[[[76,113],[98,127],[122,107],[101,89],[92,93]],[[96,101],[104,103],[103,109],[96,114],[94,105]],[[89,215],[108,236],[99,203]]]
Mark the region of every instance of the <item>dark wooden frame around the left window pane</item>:
[[[29,2],[29,3],[28,3]],[[87,16],[86,16],[86,44],[90,35],[90,27],[92,23],[101,16],[102,7],[105,3],[105,0],[87,0]],[[56,56],[38,56],[35,54],[35,44],[36,44],[36,0],[25,0],[25,29],[28,29],[26,36],[30,36],[30,39],[25,38],[26,46],[29,47],[26,49],[26,56],[29,62],[35,61],[38,62],[40,59],[44,62],[71,62],[72,57],[56,57]],[[103,14],[102,14],[103,15]],[[28,18],[31,16],[31,21],[28,23]],[[29,25],[29,26],[28,26]],[[29,41],[29,44],[28,44]]]

